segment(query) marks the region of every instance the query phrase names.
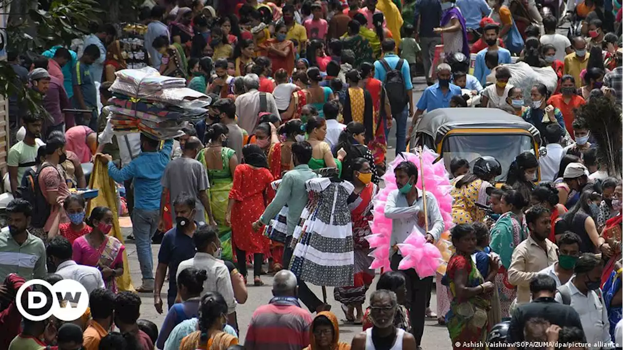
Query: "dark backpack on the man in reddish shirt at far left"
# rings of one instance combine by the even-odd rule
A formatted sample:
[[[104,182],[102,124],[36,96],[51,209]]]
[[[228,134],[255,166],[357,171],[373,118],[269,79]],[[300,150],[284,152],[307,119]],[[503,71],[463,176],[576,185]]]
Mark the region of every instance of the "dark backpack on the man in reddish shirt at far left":
[[[39,174],[49,166],[52,166],[52,164],[44,164],[37,171],[27,169],[24,177],[22,177],[20,186],[17,187],[16,197],[32,204],[31,226],[36,228],[44,227],[45,221],[50,216],[50,210],[52,209],[39,186]]]

